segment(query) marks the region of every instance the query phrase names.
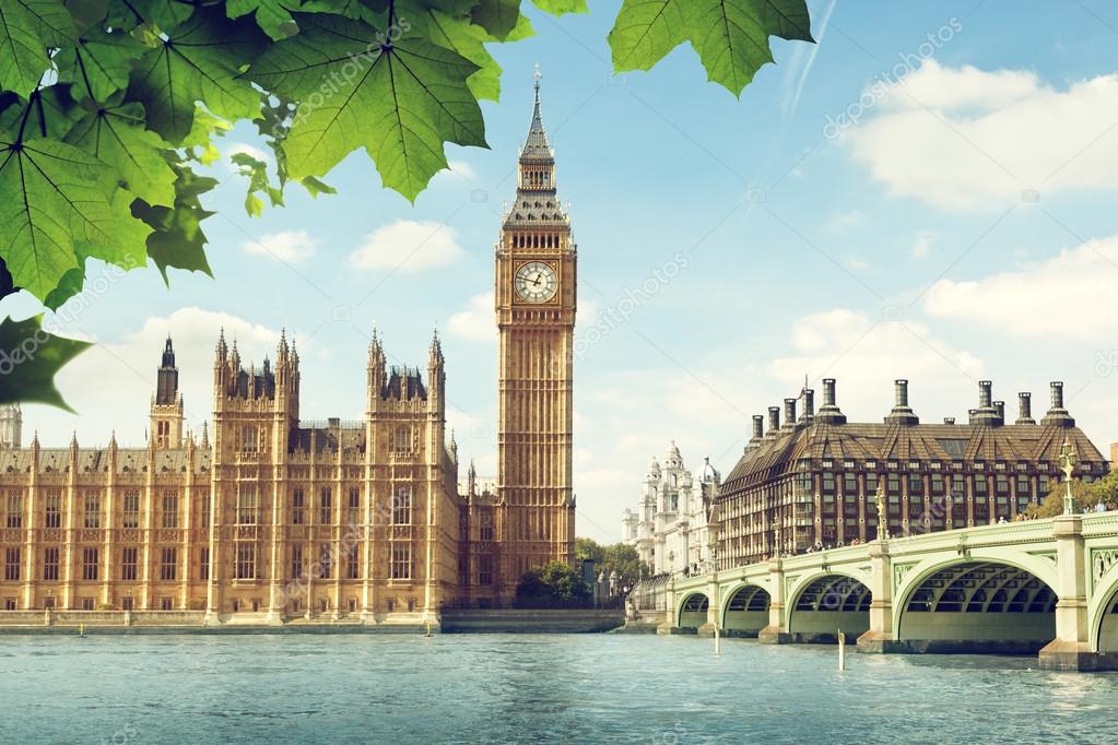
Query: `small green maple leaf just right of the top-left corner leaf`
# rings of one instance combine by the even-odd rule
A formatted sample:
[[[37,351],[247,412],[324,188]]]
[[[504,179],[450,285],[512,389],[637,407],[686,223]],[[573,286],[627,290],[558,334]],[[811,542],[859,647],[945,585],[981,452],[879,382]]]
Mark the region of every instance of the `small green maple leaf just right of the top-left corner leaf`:
[[[76,84],[76,92],[104,101],[127,86],[132,61],[143,50],[144,45],[122,29],[93,27],[78,36],[76,46],[55,56],[58,79]]]

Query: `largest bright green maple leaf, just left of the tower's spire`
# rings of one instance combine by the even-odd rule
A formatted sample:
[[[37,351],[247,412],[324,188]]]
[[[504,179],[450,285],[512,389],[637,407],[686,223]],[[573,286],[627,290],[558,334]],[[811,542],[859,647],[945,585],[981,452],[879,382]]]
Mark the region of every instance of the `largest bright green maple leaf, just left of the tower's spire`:
[[[299,35],[276,42],[248,71],[300,102],[283,141],[291,178],[324,175],[363,146],[385,185],[414,201],[447,166],[445,142],[489,146],[466,83],[474,63],[420,34],[389,42],[363,21],[295,18]]]

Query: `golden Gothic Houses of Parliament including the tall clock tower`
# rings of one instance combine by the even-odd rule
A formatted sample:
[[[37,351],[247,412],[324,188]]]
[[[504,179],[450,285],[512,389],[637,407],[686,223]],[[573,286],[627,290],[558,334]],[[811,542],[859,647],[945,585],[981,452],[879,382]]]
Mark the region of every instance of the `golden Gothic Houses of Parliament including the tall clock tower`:
[[[200,436],[184,430],[168,338],[146,447],[23,443],[18,408],[0,411],[0,609],[437,622],[442,608],[510,603],[533,566],[571,563],[576,246],[555,174],[537,79],[495,246],[494,489],[479,490],[472,465],[459,489],[437,335],[425,370],[388,366],[375,335],[364,418],[309,422],[294,342],[254,364],[221,334]]]

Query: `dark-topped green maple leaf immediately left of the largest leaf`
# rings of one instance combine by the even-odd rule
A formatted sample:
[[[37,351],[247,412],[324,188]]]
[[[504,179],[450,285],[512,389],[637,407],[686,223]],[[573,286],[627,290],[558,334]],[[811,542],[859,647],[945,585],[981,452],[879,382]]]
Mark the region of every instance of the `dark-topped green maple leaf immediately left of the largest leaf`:
[[[199,8],[141,58],[129,101],[143,104],[148,128],[172,145],[190,133],[197,101],[219,117],[249,118],[259,95],[239,77],[240,68],[266,46],[267,37],[250,19],[229,20],[219,8]]]

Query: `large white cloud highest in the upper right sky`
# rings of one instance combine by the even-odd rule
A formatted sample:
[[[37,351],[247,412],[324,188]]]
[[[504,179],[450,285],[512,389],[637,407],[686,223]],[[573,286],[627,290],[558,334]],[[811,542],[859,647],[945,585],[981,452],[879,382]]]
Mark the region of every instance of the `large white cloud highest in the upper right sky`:
[[[843,132],[855,160],[892,193],[955,210],[1118,188],[1118,74],[1067,90],[1018,70],[927,60]]]

